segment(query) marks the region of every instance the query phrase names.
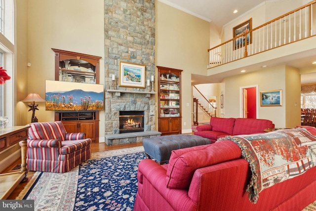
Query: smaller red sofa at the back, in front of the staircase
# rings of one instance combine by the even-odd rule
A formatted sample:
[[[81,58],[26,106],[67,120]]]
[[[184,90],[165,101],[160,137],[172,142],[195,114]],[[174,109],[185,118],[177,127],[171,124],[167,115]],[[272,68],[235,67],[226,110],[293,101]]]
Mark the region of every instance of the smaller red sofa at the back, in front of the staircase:
[[[212,117],[209,125],[197,126],[194,134],[209,138],[211,143],[214,143],[218,138],[227,135],[261,133],[265,132],[266,128],[274,127],[270,120]]]

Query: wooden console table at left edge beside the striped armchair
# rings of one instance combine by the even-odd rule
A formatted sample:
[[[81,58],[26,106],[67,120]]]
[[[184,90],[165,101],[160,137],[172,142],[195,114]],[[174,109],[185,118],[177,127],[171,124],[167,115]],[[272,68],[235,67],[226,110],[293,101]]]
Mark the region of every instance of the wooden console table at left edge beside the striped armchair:
[[[21,146],[21,170],[0,174],[0,200],[6,199],[23,180],[26,181],[26,149],[29,126],[0,127],[0,151],[18,144]]]

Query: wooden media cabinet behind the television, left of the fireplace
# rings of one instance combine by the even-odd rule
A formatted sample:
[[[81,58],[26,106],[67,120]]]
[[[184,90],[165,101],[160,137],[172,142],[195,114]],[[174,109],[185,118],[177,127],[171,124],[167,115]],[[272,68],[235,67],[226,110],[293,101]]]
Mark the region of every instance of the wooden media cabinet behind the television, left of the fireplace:
[[[54,49],[55,81],[99,84],[100,56]],[[62,121],[67,132],[84,132],[86,138],[99,143],[99,112],[55,112],[55,121]]]

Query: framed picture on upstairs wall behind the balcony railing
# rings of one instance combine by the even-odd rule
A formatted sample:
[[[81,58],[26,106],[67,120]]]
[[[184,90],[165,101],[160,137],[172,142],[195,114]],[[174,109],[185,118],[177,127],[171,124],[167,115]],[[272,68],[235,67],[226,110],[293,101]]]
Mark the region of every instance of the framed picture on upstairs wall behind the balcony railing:
[[[252,43],[252,32],[249,32],[252,29],[252,18],[246,20],[245,22],[239,24],[233,28],[233,38],[234,40],[234,49],[236,50],[239,47],[245,46],[245,44]],[[241,36],[242,34],[247,33],[246,35]],[[240,37],[238,37],[240,36]]]

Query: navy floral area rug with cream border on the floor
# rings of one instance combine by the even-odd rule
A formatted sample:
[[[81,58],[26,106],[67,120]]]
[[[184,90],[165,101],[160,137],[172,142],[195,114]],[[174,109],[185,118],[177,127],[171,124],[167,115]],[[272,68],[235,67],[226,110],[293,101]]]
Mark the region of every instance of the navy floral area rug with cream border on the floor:
[[[35,211],[131,211],[144,158],[142,146],[92,153],[67,173],[36,172],[34,185],[16,199],[33,199]]]

